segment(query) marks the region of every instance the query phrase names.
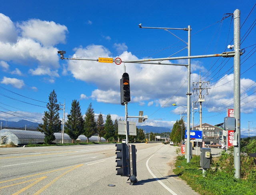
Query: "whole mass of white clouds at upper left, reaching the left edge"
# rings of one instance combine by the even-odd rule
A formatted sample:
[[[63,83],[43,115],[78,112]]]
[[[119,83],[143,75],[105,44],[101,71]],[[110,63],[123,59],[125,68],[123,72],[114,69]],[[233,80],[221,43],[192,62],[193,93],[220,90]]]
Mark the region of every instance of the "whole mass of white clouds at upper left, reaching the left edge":
[[[52,21],[32,19],[15,25],[8,16],[0,14],[1,66],[8,67],[4,61],[27,66],[38,64],[35,70],[30,70],[33,75],[58,76],[58,49],[53,46],[65,43],[67,33],[66,26]]]

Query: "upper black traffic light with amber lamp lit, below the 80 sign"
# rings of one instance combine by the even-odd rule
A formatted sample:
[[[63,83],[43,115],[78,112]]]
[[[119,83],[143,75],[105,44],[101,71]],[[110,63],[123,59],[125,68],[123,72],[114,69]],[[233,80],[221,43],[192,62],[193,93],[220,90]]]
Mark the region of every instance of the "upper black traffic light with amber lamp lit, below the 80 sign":
[[[121,104],[131,101],[129,74],[124,73],[120,79]]]

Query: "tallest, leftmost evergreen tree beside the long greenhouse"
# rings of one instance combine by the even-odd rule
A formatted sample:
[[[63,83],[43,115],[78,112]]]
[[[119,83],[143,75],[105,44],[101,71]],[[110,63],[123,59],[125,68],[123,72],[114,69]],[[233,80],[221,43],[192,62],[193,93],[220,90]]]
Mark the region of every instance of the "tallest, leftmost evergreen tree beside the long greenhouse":
[[[57,104],[57,95],[54,90],[49,95],[46,107],[48,111],[44,111],[42,118],[44,123],[39,124],[37,130],[44,133],[44,142],[50,144],[55,140],[54,133],[61,131],[60,105]]]

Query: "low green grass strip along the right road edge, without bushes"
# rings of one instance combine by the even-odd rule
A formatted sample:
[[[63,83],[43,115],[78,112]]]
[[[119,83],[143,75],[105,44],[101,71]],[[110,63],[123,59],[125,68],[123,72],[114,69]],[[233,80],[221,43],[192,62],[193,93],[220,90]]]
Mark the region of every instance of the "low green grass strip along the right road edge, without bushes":
[[[236,179],[233,174],[222,169],[208,169],[203,177],[200,156],[193,155],[190,163],[184,156],[178,156],[173,170],[181,179],[200,195],[255,195],[256,183],[253,179]]]

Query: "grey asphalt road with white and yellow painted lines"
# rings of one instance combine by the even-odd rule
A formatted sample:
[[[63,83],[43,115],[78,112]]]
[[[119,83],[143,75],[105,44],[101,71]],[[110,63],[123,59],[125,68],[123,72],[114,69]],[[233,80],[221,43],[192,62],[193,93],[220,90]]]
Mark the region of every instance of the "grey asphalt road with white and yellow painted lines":
[[[0,195],[197,194],[172,173],[176,147],[135,145],[134,185],[116,175],[115,144],[0,148]]]

